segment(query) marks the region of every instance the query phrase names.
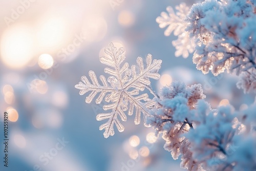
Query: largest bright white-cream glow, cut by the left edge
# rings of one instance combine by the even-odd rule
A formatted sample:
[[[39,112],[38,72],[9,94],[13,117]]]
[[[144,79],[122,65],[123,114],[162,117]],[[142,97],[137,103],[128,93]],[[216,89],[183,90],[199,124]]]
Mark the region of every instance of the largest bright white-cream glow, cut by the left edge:
[[[1,58],[13,69],[24,68],[33,58],[33,37],[26,27],[7,29],[1,39]]]

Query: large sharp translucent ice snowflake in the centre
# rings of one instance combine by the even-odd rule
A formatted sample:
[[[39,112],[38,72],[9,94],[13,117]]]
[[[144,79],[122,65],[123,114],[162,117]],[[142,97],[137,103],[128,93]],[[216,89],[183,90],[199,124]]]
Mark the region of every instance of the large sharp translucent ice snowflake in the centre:
[[[86,97],[86,102],[91,103],[93,98],[98,94],[96,103],[99,104],[104,99],[110,104],[103,106],[103,110],[112,110],[109,113],[100,113],[96,116],[98,121],[108,119],[108,121],[100,125],[99,130],[105,130],[103,133],[105,138],[110,135],[113,136],[114,125],[116,125],[119,132],[124,131],[124,126],[120,123],[118,116],[122,121],[126,121],[127,117],[124,113],[128,111],[128,115],[133,115],[135,109],[135,124],[140,123],[141,113],[144,116],[144,125],[146,125],[146,117],[150,116],[148,109],[151,108],[155,102],[148,98],[148,94],[144,93],[139,95],[139,91],[144,91],[144,89],[150,90],[151,82],[150,78],[159,79],[160,75],[158,70],[161,68],[162,60],[154,59],[152,61],[152,55],[148,54],[146,57],[146,67],[144,67],[143,60],[141,57],[137,58],[138,67],[132,66],[129,69],[129,64],[126,62],[121,67],[121,63],[125,59],[124,49],[120,48],[117,50],[112,43],[105,48],[105,53],[108,56],[101,56],[100,62],[110,66],[111,68],[105,68],[104,72],[110,74],[108,80],[104,76],[100,76],[100,80],[103,84],[99,84],[98,79],[93,71],[89,71],[89,76],[92,83],[88,80],[86,76],[82,76],[75,88],[79,89],[80,95],[87,92],[91,92],[89,96]]]

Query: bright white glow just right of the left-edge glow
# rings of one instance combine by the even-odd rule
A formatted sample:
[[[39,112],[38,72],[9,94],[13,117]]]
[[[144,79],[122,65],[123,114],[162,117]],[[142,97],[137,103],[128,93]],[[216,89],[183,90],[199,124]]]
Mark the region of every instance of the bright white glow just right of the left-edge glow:
[[[37,39],[41,47],[53,48],[61,45],[66,35],[67,23],[64,18],[51,17],[42,20],[38,27]]]

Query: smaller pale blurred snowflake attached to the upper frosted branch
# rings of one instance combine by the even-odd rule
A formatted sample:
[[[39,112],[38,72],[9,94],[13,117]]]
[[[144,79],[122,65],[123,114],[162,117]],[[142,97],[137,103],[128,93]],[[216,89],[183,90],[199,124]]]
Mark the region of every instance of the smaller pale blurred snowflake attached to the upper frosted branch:
[[[176,14],[172,7],[167,7],[166,10],[168,14],[162,12],[161,16],[157,17],[156,22],[160,28],[168,26],[164,31],[165,36],[169,36],[172,32],[174,32],[175,36],[178,36],[178,39],[172,42],[176,48],[175,56],[182,55],[184,58],[187,58],[189,53],[194,52],[195,47],[194,41],[189,38],[188,33],[185,31],[187,23],[184,21],[184,18],[189,8],[185,3],[181,3],[179,6],[176,6],[178,11]]]

